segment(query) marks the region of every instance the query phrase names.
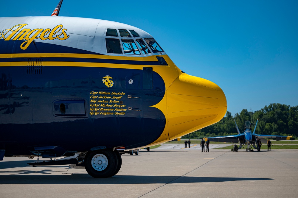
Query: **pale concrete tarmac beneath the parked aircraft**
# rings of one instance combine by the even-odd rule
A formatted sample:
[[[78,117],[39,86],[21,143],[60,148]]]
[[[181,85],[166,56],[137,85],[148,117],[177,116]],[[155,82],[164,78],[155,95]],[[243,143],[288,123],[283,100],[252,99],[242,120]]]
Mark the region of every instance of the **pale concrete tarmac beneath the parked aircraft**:
[[[32,167],[27,163],[34,159],[4,157],[0,197],[298,197],[298,149],[163,147],[169,145],[123,154],[119,173],[106,179],[83,169]]]

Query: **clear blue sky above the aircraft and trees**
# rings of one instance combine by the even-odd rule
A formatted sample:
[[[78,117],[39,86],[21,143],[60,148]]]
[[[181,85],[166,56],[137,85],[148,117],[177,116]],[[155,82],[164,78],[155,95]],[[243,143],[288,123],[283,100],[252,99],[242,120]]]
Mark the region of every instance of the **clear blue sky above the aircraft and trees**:
[[[59,0],[12,1],[0,17],[51,15]],[[125,2],[125,4],[123,3]],[[228,111],[298,105],[298,1],[77,1],[60,16],[149,32],[185,73],[218,84]]]

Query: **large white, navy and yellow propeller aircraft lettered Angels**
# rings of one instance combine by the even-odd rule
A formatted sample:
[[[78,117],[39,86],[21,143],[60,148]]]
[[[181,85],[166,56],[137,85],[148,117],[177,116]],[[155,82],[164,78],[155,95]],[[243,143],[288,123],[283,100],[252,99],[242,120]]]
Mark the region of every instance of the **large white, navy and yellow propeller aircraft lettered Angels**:
[[[161,144],[220,121],[221,88],[181,71],[134,26],[75,17],[0,18],[0,160],[58,158],[97,178],[118,147]]]

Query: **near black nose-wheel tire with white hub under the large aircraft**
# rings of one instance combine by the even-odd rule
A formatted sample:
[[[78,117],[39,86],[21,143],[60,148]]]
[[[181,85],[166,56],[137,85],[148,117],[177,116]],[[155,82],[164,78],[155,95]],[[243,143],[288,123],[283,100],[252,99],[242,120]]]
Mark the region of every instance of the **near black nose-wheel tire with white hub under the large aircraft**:
[[[88,172],[88,174],[94,178],[112,177],[116,174],[115,172],[117,168],[117,155],[111,149],[89,151],[86,154],[85,169]]]

